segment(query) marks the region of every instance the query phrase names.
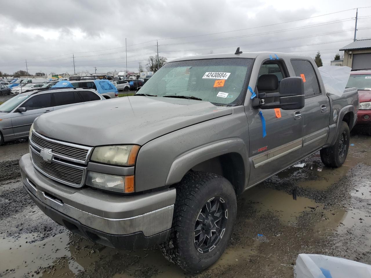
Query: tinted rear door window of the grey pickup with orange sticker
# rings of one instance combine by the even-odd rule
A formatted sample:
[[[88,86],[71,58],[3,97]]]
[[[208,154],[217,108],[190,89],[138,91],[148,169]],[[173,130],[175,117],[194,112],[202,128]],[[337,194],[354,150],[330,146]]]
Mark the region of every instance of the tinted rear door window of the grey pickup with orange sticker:
[[[292,59],[291,64],[294,69],[295,75],[298,77],[302,77],[304,81],[305,97],[320,95],[321,90],[319,89],[318,79],[312,63],[308,60]]]

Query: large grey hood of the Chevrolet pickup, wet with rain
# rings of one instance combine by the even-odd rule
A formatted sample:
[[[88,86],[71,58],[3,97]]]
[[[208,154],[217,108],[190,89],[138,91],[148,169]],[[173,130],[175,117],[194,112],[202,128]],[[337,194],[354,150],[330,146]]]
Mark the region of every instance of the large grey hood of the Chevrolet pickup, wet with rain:
[[[86,146],[144,145],[166,133],[232,112],[232,107],[200,100],[119,97],[43,114],[34,129],[50,138]]]

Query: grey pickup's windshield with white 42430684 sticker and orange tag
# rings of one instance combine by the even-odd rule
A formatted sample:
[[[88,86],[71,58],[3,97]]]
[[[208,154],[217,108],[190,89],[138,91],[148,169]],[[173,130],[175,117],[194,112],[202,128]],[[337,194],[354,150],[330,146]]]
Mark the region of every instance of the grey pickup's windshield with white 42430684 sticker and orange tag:
[[[218,105],[242,104],[253,59],[226,58],[167,63],[138,94],[197,97]]]

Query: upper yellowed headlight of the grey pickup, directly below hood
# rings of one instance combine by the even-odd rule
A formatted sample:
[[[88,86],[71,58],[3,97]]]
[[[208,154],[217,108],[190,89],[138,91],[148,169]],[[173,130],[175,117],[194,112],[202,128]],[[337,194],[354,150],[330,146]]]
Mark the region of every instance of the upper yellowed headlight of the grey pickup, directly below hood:
[[[106,164],[132,166],[137,159],[139,148],[138,145],[96,147],[91,160]]]

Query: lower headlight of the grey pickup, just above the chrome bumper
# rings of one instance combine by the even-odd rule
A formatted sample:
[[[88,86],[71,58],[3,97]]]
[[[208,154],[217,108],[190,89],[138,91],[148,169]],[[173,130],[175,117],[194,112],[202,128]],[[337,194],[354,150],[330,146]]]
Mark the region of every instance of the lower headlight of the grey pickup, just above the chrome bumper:
[[[134,176],[114,176],[96,172],[88,172],[86,185],[122,193],[134,192]]]

